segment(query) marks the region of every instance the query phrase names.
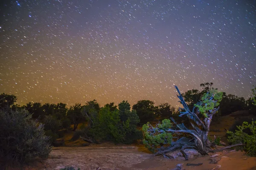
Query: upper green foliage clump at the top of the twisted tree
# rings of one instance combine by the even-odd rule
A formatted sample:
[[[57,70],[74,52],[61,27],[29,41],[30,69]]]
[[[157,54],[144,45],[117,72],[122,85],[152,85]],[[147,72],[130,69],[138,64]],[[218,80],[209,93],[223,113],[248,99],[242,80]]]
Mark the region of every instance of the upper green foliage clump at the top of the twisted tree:
[[[210,90],[201,98],[201,102],[195,104],[195,107],[198,108],[198,111],[204,116],[208,117],[207,112],[213,110],[216,106],[219,105],[219,102],[222,99],[223,92],[218,92],[215,89]]]

